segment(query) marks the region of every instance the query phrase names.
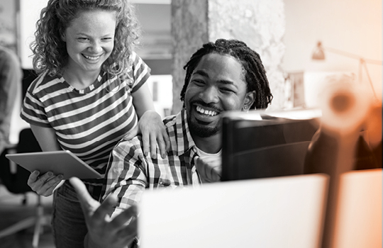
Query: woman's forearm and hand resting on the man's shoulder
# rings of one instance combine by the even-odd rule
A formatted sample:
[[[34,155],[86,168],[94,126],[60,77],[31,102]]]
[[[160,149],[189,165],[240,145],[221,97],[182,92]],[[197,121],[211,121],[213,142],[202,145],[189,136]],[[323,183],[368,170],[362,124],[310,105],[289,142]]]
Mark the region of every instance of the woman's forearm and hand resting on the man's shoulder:
[[[133,105],[139,119],[138,133],[143,135],[143,151],[145,156],[148,155],[149,150],[152,156],[155,156],[158,144],[161,156],[165,157],[170,147],[170,140],[160,114],[155,111],[148,85],[143,84],[140,86],[137,91],[132,93],[132,96]]]

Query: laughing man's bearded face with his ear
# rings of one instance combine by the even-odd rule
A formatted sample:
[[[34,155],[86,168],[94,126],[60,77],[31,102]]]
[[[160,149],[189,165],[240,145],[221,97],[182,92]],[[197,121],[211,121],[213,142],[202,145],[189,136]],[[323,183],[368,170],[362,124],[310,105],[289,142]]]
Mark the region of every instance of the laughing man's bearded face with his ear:
[[[223,111],[250,108],[254,94],[246,92],[246,85],[242,64],[234,57],[216,53],[202,57],[184,98],[191,134],[215,135],[221,130]]]

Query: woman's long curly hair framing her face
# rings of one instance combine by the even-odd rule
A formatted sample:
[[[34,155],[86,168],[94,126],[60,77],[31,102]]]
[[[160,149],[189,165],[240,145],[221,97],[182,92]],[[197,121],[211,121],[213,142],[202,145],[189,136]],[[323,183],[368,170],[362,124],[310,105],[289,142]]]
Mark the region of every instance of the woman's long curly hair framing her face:
[[[140,26],[134,6],[127,0],[49,0],[36,23],[35,41],[30,44],[35,72],[62,75],[68,61],[62,36],[79,13],[93,10],[116,13],[114,48],[101,69],[122,79],[128,78],[131,66],[128,57],[140,38]]]

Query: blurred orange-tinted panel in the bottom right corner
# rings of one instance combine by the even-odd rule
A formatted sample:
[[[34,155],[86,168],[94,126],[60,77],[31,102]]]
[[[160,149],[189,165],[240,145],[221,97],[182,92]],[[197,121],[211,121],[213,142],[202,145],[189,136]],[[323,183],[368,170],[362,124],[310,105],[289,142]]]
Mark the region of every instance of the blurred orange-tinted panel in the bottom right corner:
[[[336,248],[382,248],[382,169],[351,171],[340,179]]]

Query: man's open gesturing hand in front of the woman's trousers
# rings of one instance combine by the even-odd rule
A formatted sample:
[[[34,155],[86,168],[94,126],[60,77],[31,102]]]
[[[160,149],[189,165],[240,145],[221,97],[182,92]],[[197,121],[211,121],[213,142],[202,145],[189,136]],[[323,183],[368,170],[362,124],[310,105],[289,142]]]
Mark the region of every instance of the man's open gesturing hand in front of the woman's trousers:
[[[137,209],[135,205],[111,220],[108,213],[117,203],[116,196],[109,196],[101,204],[91,198],[86,186],[80,179],[72,178],[70,183],[77,192],[87,222],[88,234],[85,238],[85,248],[119,248],[133,243],[137,235]]]

